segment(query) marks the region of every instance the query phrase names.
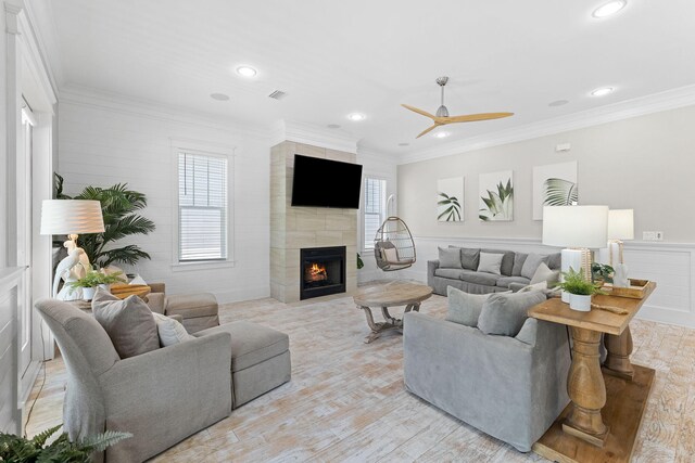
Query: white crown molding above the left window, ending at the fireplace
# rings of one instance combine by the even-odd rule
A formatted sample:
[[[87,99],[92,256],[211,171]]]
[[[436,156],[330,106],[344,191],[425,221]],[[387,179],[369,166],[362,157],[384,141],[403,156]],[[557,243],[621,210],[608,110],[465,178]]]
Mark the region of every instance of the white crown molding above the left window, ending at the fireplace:
[[[253,137],[268,141],[269,129],[225,116],[194,112],[184,107],[167,105],[150,100],[137,99],[119,93],[106,92],[88,87],[70,85],[61,89],[61,104],[106,110],[114,113],[147,117],[155,120],[176,121],[206,127],[233,134]]]

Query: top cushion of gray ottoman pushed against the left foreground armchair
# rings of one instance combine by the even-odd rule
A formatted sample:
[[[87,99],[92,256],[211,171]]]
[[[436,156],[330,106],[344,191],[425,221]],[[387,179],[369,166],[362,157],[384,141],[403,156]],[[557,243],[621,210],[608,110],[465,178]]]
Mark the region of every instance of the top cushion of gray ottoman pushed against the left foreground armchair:
[[[200,337],[220,332],[231,335],[232,373],[279,356],[290,348],[290,338],[287,334],[247,321],[210,327],[199,331],[194,336]]]

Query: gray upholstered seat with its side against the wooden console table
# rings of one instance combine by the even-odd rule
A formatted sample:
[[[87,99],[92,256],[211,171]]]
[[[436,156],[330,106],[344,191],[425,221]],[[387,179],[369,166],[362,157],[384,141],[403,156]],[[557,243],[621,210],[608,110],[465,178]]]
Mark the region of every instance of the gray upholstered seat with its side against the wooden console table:
[[[403,325],[406,389],[522,452],[569,403],[561,325],[527,319],[516,336],[491,335],[418,312]]]

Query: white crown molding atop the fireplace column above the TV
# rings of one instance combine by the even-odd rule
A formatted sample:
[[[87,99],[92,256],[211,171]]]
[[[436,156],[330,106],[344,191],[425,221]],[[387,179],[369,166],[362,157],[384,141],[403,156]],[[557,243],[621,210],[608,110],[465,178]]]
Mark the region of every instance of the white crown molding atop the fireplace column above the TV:
[[[308,123],[280,119],[273,125],[270,140],[273,145],[283,141],[293,141],[329,150],[357,153],[357,138],[351,133]]]

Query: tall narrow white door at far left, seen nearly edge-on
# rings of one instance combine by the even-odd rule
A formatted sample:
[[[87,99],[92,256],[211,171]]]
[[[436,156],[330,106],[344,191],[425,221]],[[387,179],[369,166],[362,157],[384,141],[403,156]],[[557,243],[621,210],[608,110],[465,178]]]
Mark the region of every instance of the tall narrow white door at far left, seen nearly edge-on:
[[[17,156],[17,267],[25,267],[18,303],[20,376],[24,378],[31,364],[31,153],[36,118],[29,105],[22,107],[22,146]]]

